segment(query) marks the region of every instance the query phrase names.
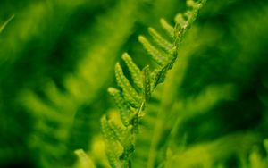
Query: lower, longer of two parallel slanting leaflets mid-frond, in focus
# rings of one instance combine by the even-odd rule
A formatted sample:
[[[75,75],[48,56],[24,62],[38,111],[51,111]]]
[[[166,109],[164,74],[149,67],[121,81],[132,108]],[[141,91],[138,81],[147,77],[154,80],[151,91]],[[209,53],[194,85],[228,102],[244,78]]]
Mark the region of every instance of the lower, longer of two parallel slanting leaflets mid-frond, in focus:
[[[118,85],[123,90],[123,96],[130,102],[130,105],[138,107],[141,103],[141,97],[138,96],[137,91],[130,85],[130,81],[124,76],[121,65],[115,65],[115,77]]]

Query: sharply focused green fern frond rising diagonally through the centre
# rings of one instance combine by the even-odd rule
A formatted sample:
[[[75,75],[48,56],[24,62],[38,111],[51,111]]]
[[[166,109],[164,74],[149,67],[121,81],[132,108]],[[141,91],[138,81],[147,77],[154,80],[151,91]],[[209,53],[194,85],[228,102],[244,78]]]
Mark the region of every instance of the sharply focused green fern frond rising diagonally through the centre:
[[[163,19],[160,20],[163,29],[165,29],[165,31],[167,31],[167,33],[174,38],[172,42],[169,42],[163,38],[153,28],[148,29],[149,34],[160,48],[154,46],[144,36],[138,37],[138,41],[144,46],[144,48],[147,50],[147,53],[151,55],[153,60],[159,65],[155,68],[155,70],[153,70],[153,72],[149,71],[148,65],[142,71],[140,71],[138,66],[132,61],[130,55],[126,53],[122,55],[122,59],[127,64],[127,67],[130,71],[133,83],[138,88],[142,89],[137,90],[133,88],[130,84],[130,81],[123,74],[121,65],[119,63],[116,63],[115,65],[115,77],[118,86],[122,89],[122,97],[121,91],[116,88],[109,88],[108,91],[114,97],[115,102],[120,109],[121,121],[125,126],[129,128],[131,127],[132,131],[130,131],[130,135],[126,136],[126,132],[129,131],[115,125],[111,120],[107,122],[106,117],[102,119],[102,126],[105,139],[107,141],[113,139],[121,143],[123,153],[120,156],[120,160],[123,167],[130,166],[130,155],[133,153],[132,147],[134,147],[131,139],[135,139],[135,134],[138,134],[139,120],[143,116],[143,113],[141,112],[144,111],[145,105],[151,97],[155,87],[158,84],[163,83],[167,71],[172,69],[172,65],[177,58],[177,50],[180,41],[185,31],[197,17],[197,12],[200,8],[200,5],[196,5],[194,2],[188,2],[188,6],[190,6],[192,9],[186,13],[177,15],[177,19],[175,19],[175,28],[172,28],[172,26]],[[111,137],[109,138],[107,136]],[[131,139],[128,139],[127,137],[130,137]],[[108,145],[108,148],[111,148],[111,144]],[[107,155],[112,155],[111,158],[114,156],[111,153],[109,154],[109,151]],[[112,163],[110,164],[113,164],[114,166],[117,158],[111,158],[110,160]],[[152,161],[154,160],[151,160],[151,164],[153,164]]]

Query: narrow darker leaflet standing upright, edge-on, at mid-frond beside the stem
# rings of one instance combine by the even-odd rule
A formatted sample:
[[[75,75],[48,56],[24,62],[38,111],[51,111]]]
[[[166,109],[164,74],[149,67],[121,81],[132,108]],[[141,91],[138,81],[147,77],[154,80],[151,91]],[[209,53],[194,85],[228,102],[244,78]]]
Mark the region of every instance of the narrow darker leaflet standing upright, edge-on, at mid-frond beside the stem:
[[[143,71],[144,99],[147,102],[151,97],[149,66],[147,65],[142,71]]]

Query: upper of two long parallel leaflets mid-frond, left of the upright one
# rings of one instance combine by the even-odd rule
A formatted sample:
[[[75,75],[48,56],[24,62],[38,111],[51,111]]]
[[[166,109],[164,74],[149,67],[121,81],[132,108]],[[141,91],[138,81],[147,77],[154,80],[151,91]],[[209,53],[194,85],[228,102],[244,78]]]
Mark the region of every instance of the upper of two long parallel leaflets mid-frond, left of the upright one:
[[[124,53],[121,57],[129,68],[134,84],[138,88],[142,88],[141,71],[139,70],[138,66],[132,61],[130,55],[127,53]]]

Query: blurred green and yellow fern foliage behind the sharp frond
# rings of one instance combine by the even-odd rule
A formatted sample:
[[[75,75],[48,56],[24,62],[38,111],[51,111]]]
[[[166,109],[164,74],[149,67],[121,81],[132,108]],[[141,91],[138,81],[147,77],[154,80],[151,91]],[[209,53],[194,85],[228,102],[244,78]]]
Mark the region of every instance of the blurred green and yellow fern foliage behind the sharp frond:
[[[1,0],[0,167],[109,167],[101,116],[128,51],[183,0]],[[268,2],[208,0],[140,121],[132,167],[268,167]],[[125,70],[125,67],[122,67]]]

